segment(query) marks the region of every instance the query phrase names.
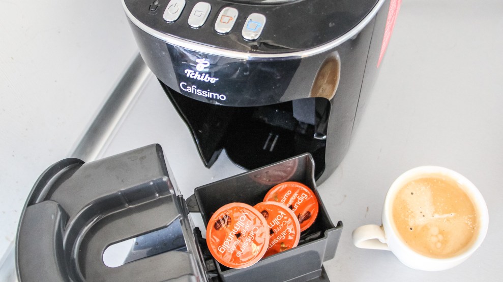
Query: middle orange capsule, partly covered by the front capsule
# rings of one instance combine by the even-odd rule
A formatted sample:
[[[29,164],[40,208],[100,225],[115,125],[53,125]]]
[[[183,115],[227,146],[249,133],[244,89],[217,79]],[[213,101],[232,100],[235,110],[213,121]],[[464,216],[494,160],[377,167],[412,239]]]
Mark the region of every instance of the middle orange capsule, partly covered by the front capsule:
[[[254,206],[267,221],[269,246],[264,257],[286,251],[299,244],[301,226],[293,211],[278,202],[261,202]]]

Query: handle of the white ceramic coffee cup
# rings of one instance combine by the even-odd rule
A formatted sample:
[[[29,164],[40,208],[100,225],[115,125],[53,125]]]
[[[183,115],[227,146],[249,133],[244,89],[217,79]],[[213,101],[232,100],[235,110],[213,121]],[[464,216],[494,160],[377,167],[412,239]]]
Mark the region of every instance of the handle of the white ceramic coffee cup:
[[[390,251],[382,226],[375,224],[360,226],[354,229],[352,237],[353,244],[358,248]]]

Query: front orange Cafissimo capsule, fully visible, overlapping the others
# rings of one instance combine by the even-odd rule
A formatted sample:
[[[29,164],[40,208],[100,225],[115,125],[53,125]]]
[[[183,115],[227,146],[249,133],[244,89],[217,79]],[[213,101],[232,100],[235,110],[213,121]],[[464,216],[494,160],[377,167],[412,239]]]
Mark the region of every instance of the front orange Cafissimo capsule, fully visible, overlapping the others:
[[[264,217],[251,205],[230,203],[211,217],[206,243],[213,257],[230,268],[245,268],[259,261],[269,244]]]

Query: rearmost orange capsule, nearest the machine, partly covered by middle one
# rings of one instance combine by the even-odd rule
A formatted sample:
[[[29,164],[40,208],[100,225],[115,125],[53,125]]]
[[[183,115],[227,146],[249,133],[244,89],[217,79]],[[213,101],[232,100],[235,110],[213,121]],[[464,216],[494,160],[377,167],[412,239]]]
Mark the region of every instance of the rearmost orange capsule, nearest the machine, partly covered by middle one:
[[[318,216],[318,200],[314,192],[299,182],[280,183],[264,197],[264,202],[280,202],[289,207],[301,225],[301,231],[308,229]]]

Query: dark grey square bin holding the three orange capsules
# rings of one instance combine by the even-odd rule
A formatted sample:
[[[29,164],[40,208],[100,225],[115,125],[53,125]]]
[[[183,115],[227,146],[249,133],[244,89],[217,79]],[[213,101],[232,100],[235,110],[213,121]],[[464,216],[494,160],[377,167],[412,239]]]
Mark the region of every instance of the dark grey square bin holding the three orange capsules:
[[[187,204],[189,210],[192,207],[191,211],[201,213],[204,225],[207,226],[213,213],[221,206],[231,202],[243,202],[253,206],[263,201],[265,194],[272,187],[285,181],[303,183],[314,192],[319,204],[316,221],[301,233],[297,247],[264,258],[250,267],[231,269],[214,261],[218,275],[223,281],[244,281],[250,277],[256,281],[327,279],[323,277],[322,263],[335,256],[342,222],[339,221],[337,226],[334,226],[330,220],[316,189],[314,161],[310,154],[198,187],[187,199]]]

